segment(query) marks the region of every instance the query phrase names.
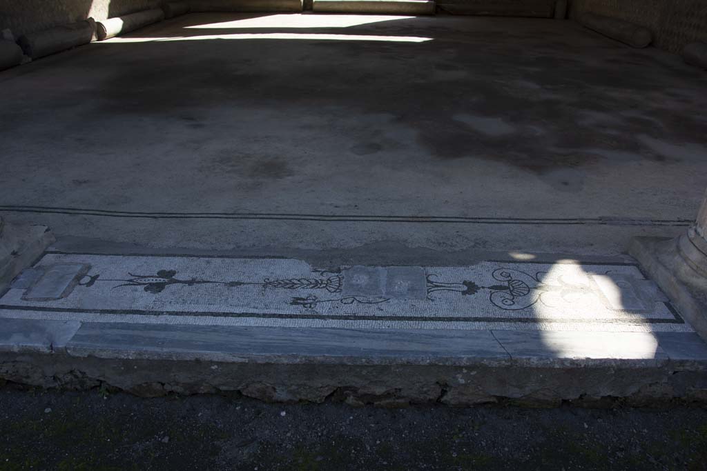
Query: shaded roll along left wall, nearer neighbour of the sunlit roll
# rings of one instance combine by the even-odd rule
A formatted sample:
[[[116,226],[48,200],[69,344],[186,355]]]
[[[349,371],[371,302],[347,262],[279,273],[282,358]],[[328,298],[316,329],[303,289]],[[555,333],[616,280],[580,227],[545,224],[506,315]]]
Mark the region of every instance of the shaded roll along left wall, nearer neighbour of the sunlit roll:
[[[22,50],[32,59],[48,56],[72,47],[88,44],[95,38],[95,21],[93,18],[57,26],[49,30],[32,32],[20,37],[18,42]]]

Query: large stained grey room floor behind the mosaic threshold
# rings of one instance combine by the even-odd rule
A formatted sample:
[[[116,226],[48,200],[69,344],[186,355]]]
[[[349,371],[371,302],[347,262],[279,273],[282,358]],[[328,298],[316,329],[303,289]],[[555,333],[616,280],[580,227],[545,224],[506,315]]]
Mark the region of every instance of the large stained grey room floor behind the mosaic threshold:
[[[60,239],[614,255],[707,187],[707,73],[571,21],[189,15],[0,102],[0,215]]]

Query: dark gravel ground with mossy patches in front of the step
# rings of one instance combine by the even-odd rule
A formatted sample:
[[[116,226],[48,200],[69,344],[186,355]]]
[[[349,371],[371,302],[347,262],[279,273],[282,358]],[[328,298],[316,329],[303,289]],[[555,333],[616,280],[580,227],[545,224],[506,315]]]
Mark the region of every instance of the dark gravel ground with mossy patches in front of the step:
[[[382,409],[0,389],[0,470],[707,470],[699,407]]]

